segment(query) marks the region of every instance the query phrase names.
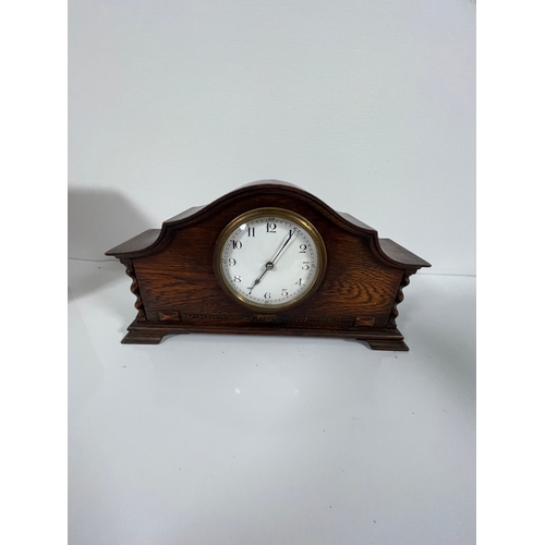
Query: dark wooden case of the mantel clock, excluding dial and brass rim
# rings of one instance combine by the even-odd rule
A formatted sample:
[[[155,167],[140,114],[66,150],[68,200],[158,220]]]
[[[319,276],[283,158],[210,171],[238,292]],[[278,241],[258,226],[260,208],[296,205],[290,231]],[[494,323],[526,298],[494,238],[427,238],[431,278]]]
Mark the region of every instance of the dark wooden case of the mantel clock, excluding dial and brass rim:
[[[225,227],[254,208],[292,210],[320,233],[327,268],[300,304],[278,312],[242,305],[214,265]],[[155,344],[165,335],[209,332],[338,337],[374,350],[409,350],[396,325],[409,278],[429,263],[352,216],[286,182],[261,181],[190,208],[106,252],[132,279],[137,315],[121,342]]]

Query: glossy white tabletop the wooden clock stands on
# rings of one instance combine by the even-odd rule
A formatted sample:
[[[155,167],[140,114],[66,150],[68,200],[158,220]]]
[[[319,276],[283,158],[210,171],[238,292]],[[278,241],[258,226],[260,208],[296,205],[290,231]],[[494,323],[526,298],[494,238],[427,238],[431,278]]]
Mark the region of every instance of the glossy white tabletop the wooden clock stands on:
[[[475,543],[475,279],[411,280],[410,352],[125,346],[124,268],[69,261],[70,545]]]

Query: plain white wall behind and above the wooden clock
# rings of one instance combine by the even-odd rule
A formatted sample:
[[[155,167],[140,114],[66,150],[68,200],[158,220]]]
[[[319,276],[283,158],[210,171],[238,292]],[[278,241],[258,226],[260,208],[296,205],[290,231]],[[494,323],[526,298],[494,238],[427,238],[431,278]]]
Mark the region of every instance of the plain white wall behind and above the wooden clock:
[[[475,274],[474,1],[71,0],[69,17],[71,257],[279,179]]]

